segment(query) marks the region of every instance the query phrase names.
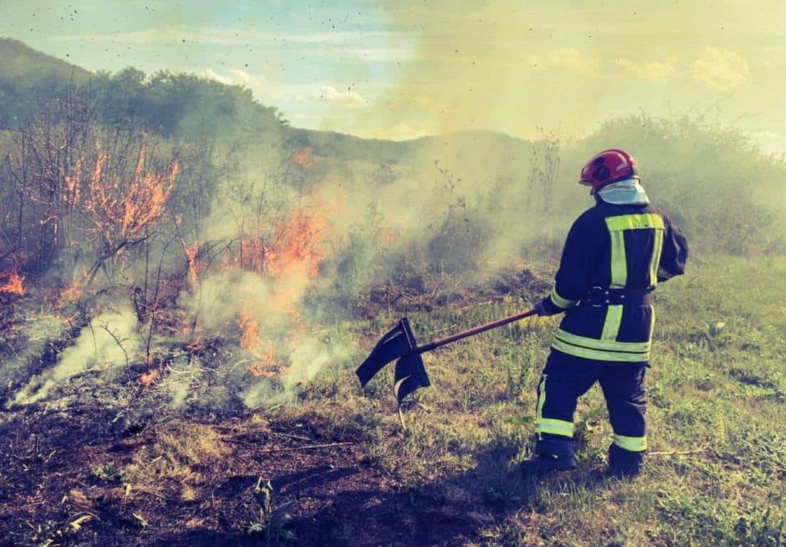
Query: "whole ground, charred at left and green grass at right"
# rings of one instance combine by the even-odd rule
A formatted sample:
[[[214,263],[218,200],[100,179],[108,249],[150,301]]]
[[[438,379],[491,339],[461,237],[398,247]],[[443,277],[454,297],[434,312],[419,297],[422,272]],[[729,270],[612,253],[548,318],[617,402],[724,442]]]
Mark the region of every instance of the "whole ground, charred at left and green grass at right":
[[[6,412],[0,545],[784,545],[786,260],[689,266],[656,293],[651,455],[633,483],[604,475],[612,431],[597,387],[576,414],[578,468],[541,480],[516,468],[558,318],[424,355],[433,385],[402,428],[392,367],[365,393],[353,374],[403,311],[391,309],[332,326],[324,336],[359,353],[293,405],[160,408],[134,423],[87,397]],[[534,296],[408,315],[423,343]]]

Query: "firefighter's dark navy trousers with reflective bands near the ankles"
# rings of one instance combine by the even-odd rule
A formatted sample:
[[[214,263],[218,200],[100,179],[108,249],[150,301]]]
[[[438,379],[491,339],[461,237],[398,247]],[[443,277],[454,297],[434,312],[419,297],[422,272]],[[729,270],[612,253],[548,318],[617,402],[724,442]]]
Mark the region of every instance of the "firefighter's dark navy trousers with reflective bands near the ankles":
[[[641,466],[647,450],[644,376],[646,362],[577,358],[553,350],[538,383],[536,453],[572,455],[573,413],[578,398],[597,381],[614,430],[612,467]]]

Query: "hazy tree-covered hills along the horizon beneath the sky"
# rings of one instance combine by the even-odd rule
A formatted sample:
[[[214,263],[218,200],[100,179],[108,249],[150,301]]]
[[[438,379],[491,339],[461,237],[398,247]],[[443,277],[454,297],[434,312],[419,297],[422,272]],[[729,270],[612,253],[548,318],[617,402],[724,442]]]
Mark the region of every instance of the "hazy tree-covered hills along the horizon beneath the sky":
[[[390,164],[428,162],[435,155],[456,160],[465,149],[490,151],[491,156],[485,156],[485,160],[505,163],[516,156],[528,157],[531,151],[528,143],[494,131],[387,141],[289,127],[279,123],[275,108],[260,105],[250,91],[239,86],[194,75],[145,75],[131,68],[96,75],[14,39],[0,39],[0,128],[13,127],[20,116],[31,112],[31,99],[56,96],[69,82],[80,86],[90,83],[99,112],[110,122],[133,116],[145,119],[151,130],[164,134],[185,131],[194,135],[210,127],[215,134],[230,139],[236,135],[227,134],[223,128],[231,128],[235,134],[248,131],[257,135],[276,130],[281,131],[287,149],[309,147],[317,156]],[[255,116],[263,118],[261,127],[253,123]],[[230,123],[227,117],[244,121]]]

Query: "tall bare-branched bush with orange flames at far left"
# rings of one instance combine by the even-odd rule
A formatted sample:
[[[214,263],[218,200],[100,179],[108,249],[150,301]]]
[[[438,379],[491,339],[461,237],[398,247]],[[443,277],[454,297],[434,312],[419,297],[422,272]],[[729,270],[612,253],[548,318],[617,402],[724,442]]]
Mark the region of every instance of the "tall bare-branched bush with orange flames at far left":
[[[88,285],[99,270],[122,273],[133,257],[121,255],[155,231],[178,175],[174,155],[151,157],[145,134],[102,127],[92,108],[71,88],[13,134],[5,163],[16,215],[4,219],[2,243],[24,254],[18,266],[36,280],[54,271],[71,284],[80,265]]]

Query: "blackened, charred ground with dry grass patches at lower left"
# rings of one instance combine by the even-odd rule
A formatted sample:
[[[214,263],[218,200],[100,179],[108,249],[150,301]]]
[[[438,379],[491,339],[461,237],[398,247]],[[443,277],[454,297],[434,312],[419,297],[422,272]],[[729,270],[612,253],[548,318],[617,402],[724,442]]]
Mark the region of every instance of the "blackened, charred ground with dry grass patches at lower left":
[[[0,428],[0,545],[275,545],[275,536],[248,534],[260,477],[274,505],[292,502],[286,529],[298,545],[451,545],[493,520],[476,509],[472,472],[406,488],[355,432],[325,436],[317,417],[281,418],[127,428],[116,411],[28,408]],[[167,450],[165,431],[211,446],[167,441]],[[349,444],[291,450],[340,442]],[[139,465],[141,476],[113,475]],[[188,493],[183,477],[196,485]]]

